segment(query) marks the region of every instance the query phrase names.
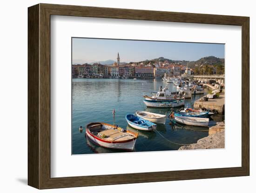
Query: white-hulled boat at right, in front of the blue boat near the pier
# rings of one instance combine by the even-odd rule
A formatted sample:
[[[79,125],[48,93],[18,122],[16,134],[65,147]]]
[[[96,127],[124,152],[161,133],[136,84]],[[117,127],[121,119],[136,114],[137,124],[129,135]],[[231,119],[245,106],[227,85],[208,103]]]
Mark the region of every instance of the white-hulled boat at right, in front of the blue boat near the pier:
[[[207,127],[209,124],[209,118],[202,118],[202,117],[174,116],[173,119],[176,122],[179,122],[185,125]]]

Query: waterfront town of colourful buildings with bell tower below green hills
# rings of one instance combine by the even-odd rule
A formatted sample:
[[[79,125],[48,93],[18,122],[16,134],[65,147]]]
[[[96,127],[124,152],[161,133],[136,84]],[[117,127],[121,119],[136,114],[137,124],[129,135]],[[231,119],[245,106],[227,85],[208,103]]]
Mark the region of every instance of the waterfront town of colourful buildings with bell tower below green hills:
[[[189,68],[189,62],[186,64],[177,61],[170,62],[164,58],[159,61],[120,63],[119,53],[117,61],[112,65],[72,64],[72,77],[74,78],[157,78],[165,74],[169,77],[177,77],[193,74],[221,74],[222,71],[224,71],[222,65],[193,63],[193,68]]]

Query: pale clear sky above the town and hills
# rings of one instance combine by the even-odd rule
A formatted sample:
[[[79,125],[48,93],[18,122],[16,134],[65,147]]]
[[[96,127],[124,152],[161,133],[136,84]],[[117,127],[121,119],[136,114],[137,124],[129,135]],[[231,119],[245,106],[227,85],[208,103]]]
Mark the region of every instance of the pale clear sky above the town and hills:
[[[115,60],[139,62],[164,57],[195,61],[206,56],[224,58],[224,44],[162,42],[120,39],[72,38],[72,64]]]

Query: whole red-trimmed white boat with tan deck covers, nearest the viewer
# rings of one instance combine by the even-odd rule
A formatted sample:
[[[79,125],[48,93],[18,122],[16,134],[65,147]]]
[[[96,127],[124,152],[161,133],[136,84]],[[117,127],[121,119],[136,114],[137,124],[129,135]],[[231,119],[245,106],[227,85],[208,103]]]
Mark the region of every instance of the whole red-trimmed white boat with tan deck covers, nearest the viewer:
[[[132,151],[138,133],[125,131],[115,125],[104,122],[91,122],[86,126],[86,135],[95,144],[114,149]]]

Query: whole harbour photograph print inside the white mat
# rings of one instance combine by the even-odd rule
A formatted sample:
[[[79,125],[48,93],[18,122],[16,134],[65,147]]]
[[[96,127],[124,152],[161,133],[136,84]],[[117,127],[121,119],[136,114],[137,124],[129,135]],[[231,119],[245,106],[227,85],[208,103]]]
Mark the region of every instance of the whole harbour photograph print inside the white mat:
[[[72,154],[225,148],[224,51],[72,38]]]

